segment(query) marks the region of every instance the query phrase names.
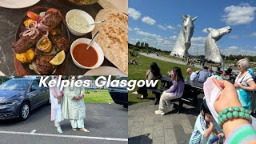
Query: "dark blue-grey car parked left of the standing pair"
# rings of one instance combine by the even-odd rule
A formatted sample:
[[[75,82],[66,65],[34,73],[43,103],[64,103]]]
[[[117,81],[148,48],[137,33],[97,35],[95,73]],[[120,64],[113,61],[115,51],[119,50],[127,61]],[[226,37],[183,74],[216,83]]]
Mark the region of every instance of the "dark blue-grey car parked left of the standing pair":
[[[39,79],[10,79],[0,85],[0,119],[26,120],[32,110],[49,102],[49,88],[39,87]]]

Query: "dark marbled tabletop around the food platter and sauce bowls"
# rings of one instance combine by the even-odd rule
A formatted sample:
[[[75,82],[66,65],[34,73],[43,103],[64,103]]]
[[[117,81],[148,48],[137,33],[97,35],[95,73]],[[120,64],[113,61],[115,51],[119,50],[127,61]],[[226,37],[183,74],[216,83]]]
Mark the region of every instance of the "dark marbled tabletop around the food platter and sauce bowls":
[[[95,18],[98,11],[102,10],[102,6],[100,6],[98,3],[88,6],[78,6],[66,0],[42,0],[34,6],[53,7],[60,10],[64,16],[69,10],[72,9],[84,10],[90,14],[92,18]],[[19,23],[22,21],[26,11],[30,10],[31,7],[33,6],[23,9],[6,9],[0,7],[0,71],[6,75],[16,75],[12,43],[15,40],[16,30],[18,29]],[[91,34],[77,37],[70,33],[70,44],[77,38],[91,38]],[[75,66],[70,54],[67,56],[67,58],[68,62],[66,66],[66,75],[83,75],[88,71]],[[115,67],[106,58],[102,66]]]

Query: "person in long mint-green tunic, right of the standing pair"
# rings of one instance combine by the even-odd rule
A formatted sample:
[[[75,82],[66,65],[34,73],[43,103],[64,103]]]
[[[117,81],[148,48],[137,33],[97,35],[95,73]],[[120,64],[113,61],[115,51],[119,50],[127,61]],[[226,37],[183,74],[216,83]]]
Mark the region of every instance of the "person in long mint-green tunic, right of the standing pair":
[[[77,79],[76,76],[70,76],[70,80]],[[64,100],[62,106],[62,118],[70,119],[73,130],[79,128],[81,131],[89,132],[84,126],[83,118],[86,118],[86,105],[83,101],[85,94],[84,87],[67,86],[64,89]]]

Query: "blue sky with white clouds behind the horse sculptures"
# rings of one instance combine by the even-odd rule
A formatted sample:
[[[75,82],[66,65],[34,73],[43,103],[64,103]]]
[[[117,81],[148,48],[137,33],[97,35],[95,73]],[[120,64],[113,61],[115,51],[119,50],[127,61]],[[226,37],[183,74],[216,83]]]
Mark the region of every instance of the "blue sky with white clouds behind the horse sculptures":
[[[256,55],[255,0],[130,0],[129,42],[147,42],[161,50],[172,50],[183,20],[189,14],[194,35],[189,53],[204,54],[207,28],[231,26],[232,31],[218,41],[222,54]]]

